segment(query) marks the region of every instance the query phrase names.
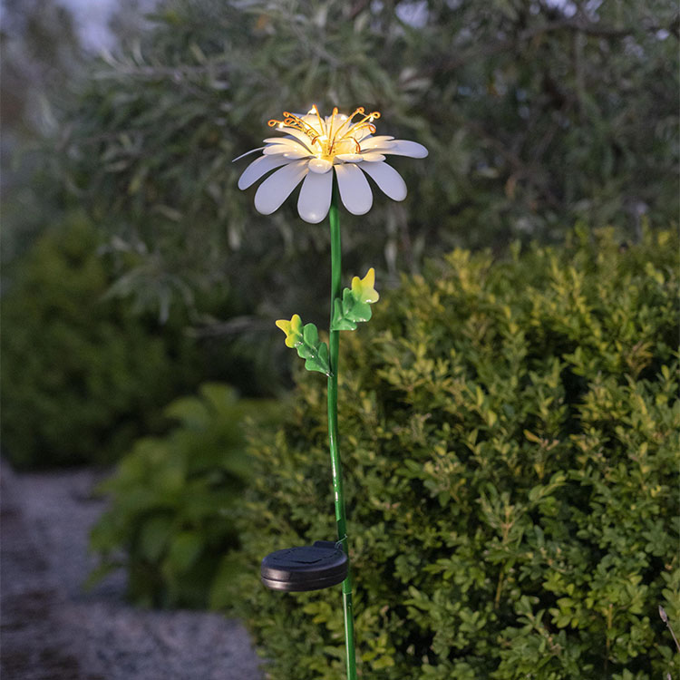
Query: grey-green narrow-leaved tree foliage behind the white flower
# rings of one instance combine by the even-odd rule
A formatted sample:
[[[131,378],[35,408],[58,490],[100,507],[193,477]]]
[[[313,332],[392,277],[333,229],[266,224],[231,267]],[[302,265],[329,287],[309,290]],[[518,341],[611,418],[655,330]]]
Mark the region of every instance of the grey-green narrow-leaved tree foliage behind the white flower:
[[[676,218],[670,0],[169,0],[152,20],[92,63],[52,156],[58,181],[145,254],[127,292],[148,304],[227,273],[258,314],[273,291],[277,308],[281,295],[304,317],[320,308],[325,276],[308,260],[325,230],[291,206],[257,216],[230,162],[310,96],[378,109],[381,131],[431,151],[426,166],[397,161],[405,204],[347,218],[352,268],[393,275],[454,245],[561,239],[579,218],[629,234],[641,213]]]

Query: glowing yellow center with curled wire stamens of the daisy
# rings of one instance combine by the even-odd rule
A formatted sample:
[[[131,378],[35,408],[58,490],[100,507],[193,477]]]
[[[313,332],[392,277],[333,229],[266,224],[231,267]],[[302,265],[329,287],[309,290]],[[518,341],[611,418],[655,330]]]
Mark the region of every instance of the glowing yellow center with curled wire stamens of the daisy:
[[[285,111],[283,114],[283,121],[272,119],[267,123],[269,127],[276,127],[279,130],[292,128],[304,132],[310,141],[310,146],[316,151],[316,157],[331,162],[338,154],[361,151],[359,140],[364,136],[364,131],[374,134],[373,121],[380,118],[380,112],[366,113],[364,107],[360,106],[351,116],[339,116],[339,121],[336,121],[337,108],[335,108],[333,115],[326,122],[321,118],[316,104],[307,112],[307,115],[316,114],[318,124],[316,124],[316,121],[315,124],[304,121],[295,113]],[[362,116],[362,118],[354,121],[356,116]],[[361,134],[357,135],[357,132],[361,132]]]

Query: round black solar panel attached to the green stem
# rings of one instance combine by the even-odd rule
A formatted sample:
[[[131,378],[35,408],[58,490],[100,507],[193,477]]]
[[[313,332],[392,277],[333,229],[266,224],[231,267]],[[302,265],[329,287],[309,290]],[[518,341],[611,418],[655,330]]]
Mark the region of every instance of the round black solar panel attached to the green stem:
[[[270,553],[262,560],[260,578],[273,590],[304,592],[342,583],[347,570],[345,552],[331,541],[317,540],[313,546]]]

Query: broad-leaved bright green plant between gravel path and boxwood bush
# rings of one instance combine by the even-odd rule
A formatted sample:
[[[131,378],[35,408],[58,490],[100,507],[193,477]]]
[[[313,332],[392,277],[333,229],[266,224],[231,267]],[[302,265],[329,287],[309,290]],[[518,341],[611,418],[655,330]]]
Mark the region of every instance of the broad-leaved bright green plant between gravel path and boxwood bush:
[[[238,547],[234,515],[251,477],[242,421],[259,423],[272,403],[238,400],[223,384],[168,406],[177,423],[166,436],[136,442],[102,484],[112,506],[92,529],[102,555],[98,578],[128,572],[130,597],[145,606],[205,607],[212,580],[229,578]]]

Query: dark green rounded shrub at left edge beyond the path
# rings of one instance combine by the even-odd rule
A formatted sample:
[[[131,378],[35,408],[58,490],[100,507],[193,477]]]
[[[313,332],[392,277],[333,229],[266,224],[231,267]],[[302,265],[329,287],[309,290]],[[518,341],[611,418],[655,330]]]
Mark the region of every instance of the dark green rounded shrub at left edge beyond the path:
[[[112,461],[200,380],[181,322],[104,299],[112,279],[83,219],[46,232],[0,300],[3,446],[19,467]]]

